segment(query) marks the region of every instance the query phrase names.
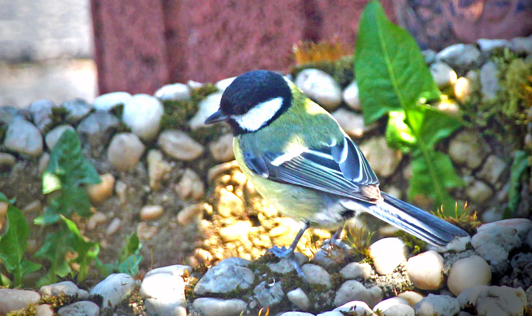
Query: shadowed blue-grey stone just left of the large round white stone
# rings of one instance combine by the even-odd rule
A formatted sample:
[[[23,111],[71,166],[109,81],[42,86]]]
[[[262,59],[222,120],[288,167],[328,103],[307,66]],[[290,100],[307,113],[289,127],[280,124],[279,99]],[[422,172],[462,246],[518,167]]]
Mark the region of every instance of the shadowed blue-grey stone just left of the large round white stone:
[[[82,142],[94,147],[107,144],[112,132],[118,127],[120,120],[105,111],[96,111],[79,123],[76,131]]]

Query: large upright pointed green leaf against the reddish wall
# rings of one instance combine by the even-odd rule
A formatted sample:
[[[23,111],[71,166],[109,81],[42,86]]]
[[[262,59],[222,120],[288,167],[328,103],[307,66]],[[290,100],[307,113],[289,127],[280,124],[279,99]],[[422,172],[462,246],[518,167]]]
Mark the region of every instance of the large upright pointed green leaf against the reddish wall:
[[[406,110],[440,92],[414,38],[370,1],[360,19],[354,55],[362,113],[370,124],[390,111]]]

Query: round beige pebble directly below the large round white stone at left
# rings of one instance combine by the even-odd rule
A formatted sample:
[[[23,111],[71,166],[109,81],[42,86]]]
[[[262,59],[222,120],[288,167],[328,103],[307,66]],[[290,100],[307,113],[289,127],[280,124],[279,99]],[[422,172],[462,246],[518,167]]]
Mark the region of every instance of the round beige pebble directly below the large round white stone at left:
[[[120,133],[113,136],[107,148],[107,160],[117,171],[128,171],[137,165],[146,147],[137,135]]]

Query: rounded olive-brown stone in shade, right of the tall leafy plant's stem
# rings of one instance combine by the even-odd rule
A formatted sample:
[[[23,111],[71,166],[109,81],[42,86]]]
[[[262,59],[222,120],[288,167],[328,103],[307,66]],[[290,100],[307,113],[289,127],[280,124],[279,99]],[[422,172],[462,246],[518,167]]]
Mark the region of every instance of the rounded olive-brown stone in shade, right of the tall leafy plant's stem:
[[[484,161],[487,151],[484,140],[472,131],[463,131],[449,143],[449,156],[456,164],[476,169]]]

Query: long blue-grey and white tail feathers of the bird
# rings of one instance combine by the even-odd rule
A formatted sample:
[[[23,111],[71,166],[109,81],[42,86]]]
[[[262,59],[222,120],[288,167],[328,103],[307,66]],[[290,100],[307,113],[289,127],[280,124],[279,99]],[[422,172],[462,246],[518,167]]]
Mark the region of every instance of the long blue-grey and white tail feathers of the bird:
[[[427,243],[445,246],[455,236],[468,236],[468,233],[451,223],[427,213],[418,207],[381,192],[384,201],[366,207],[371,215],[414,235]]]

